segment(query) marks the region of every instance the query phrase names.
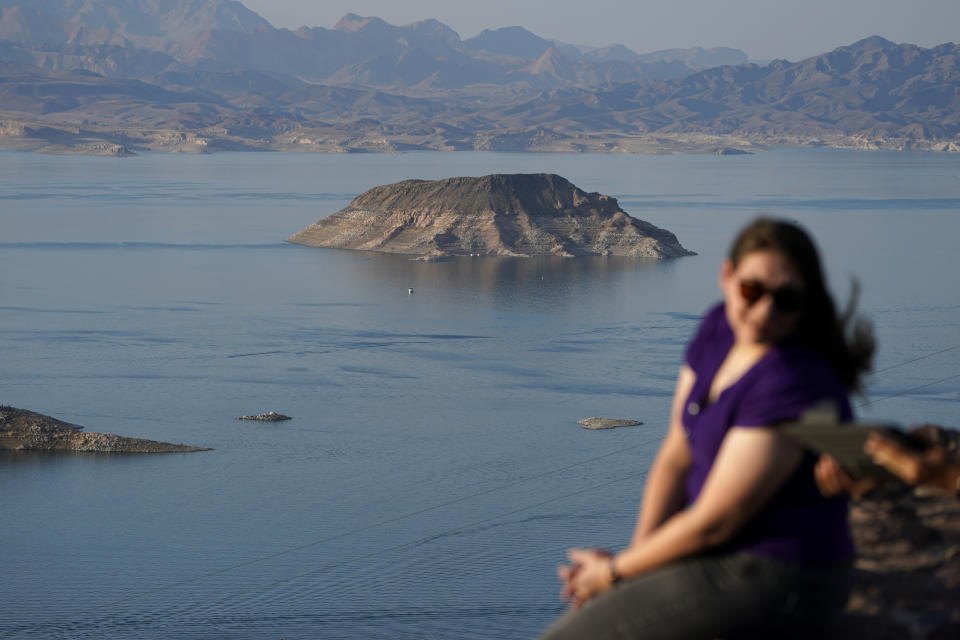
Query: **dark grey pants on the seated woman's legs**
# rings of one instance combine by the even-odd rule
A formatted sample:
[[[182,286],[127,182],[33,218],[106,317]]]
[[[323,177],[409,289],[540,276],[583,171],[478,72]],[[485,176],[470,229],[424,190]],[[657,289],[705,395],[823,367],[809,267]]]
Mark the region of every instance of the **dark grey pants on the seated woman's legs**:
[[[562,616],[541,640],[809,633],[808,623],[843,607],[846,575],[845,569],[808,569],[745,553],[697,556],[621,583]]]

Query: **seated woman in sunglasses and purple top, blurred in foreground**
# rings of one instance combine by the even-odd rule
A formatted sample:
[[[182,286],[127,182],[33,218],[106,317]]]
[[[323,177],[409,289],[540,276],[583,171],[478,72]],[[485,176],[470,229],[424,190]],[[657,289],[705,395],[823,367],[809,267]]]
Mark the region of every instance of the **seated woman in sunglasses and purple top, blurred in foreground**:
[[[786,222],[741,231],[720,288],[687,348],[630,545],[569,552],[558,572],[573,610],[546,639],[806,635],[846,601],[846,502],[820,494],[815,458],[776,425],[824,400],[852,417],[869,329],[846,338],[852,313],[838,318],[813,243]]]

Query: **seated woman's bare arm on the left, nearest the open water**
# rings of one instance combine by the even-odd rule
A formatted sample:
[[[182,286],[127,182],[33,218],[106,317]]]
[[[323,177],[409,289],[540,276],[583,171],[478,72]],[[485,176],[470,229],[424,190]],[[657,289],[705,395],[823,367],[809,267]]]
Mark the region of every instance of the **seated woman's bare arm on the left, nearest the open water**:
[[[683,430],[683,408],[695,380],[696,374],[684,365],[677,376],[673,392],[667,437],[660,445],[657,457],[650,467],[630,546],[638,545],[643,538],[683,509],[686,502],[683,481],[690,468],[691,454],[687,435]]]

